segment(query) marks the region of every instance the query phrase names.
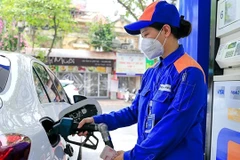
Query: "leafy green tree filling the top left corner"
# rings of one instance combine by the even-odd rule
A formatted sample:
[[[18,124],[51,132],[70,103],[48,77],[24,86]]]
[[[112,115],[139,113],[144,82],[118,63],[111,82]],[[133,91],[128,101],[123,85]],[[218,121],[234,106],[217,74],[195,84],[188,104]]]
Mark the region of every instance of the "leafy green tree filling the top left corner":
[[[2,0],[0,16],[9,27],[13,22],[26,22],[33,32],[33,47],[37,29],[47,26],[48,29],[53,30],[48,57],[59,32],[65,33],[72,29],[73,20],[70,4],[71,0]]]

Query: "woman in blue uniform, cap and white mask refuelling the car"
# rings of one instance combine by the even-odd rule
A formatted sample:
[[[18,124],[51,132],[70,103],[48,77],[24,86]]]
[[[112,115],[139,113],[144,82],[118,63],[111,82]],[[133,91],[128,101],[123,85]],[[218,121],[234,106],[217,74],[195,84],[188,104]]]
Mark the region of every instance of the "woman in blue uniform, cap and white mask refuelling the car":
[[[115,160],[203,160],[206,78],[201,66],[178,43],[191,33],[191,23],[174,5],[156,1],[125,30],[141,34],[145,56],[159,58],[159,62],[144,73],[131,106],[85,118],[79,128],[85,123],[105,123],[115,130],[138,123],[136,145],[118,151]]]

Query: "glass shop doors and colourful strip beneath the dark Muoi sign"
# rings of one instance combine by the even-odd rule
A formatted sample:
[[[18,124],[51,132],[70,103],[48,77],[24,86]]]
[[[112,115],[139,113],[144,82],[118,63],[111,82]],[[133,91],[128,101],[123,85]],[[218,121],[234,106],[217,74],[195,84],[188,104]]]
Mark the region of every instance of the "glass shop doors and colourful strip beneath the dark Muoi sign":
[[[83,66],[55,66],[57,76],[61,80],[72,80],[79,89],[79,94],[92,98],[109,96],[109,77],[111,68]]]

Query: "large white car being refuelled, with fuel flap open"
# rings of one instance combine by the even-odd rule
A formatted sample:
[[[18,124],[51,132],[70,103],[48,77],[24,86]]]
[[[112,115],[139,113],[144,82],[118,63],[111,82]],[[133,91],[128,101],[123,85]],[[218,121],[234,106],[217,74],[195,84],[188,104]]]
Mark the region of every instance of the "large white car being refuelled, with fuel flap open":
[[[58,130],[53,134],[53,128],[65,117],[77,124],[100,113],[93,99],[70,105],[59,80],[42,62],[0,51],[0,160],[77,159],[79,148],[72,151],[72,144]]]

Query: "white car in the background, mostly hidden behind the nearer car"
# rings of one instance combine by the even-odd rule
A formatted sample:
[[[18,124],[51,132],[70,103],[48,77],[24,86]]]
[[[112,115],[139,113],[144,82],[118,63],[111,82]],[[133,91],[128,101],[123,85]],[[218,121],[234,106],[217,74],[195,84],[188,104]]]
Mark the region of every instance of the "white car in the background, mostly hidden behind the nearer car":
[[[79,89],[73,84],[74,81],[71,81],[68,79],[60,80],[60,83],[62,84],[65,92],[67,93],[67,96],[68,96],[70,102],[73,104],[74,103],[73,96],[79,95]]]

